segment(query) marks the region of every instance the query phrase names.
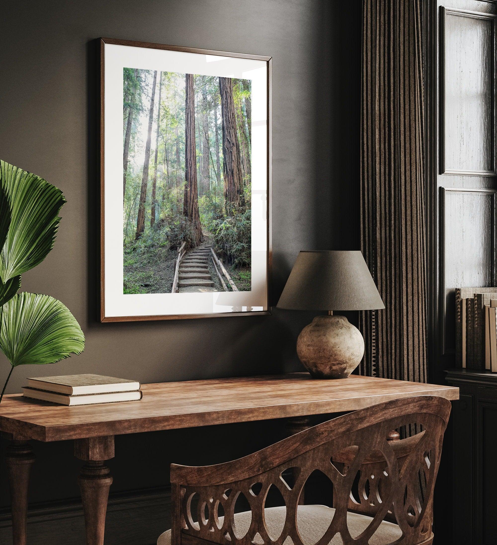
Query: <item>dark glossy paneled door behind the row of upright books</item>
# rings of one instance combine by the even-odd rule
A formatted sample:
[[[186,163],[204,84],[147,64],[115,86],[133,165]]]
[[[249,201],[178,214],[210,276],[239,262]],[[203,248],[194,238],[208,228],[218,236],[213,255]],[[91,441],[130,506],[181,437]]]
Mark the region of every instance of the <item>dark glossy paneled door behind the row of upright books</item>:
[[[432,184],[438,199],[441,370],[454,362],[454,288],[495,284],[497,4],[438,0]],[[433,188],[434,189],[434,188]]]

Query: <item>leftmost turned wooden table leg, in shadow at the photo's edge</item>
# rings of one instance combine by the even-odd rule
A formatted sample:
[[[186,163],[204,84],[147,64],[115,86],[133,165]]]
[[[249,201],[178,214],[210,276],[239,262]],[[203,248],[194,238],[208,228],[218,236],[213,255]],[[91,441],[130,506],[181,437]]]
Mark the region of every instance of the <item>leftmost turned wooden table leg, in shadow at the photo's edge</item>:
[[[34,458],[33,449],[26,441],[10,441],[5,452],[12,504],[13,545],[26,544],[29,474]]]

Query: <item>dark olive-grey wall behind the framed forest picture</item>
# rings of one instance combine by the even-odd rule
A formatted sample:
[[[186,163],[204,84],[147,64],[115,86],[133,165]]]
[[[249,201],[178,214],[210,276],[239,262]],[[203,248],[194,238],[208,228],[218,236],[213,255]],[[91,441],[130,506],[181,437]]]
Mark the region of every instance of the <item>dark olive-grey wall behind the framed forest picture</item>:
[[[273,304],[299,250],[359,247],[359,0],[8,2],[0,32],[0,156],[57,185],[68,201],[53,251],[23,276],[22,288],[62,300],[86,335],[80,356],[17,368],[8,392],[40,374],[94,372],[146,383],[299,370],[295,340],[310,313],[99,322],[99,37],[272,56]],[[0,356],[0,380],[7,372]],[[253,428],[237,429],[213,431],[235,444],[239,437],[223,459],[251,448],[245,432]],[[197,443],[191,431],[144,440],[146,456],[136,440],[117,440],[114,489],[156,484],[153,469],[167,468],[174,456],[176,447],[171,455],[166,447],[181,440],[191,453]],[[37,453],[32,499],[76,495],[71,445],[41,445]],[[47,484],[46,470],[56,469],[61,478]]]

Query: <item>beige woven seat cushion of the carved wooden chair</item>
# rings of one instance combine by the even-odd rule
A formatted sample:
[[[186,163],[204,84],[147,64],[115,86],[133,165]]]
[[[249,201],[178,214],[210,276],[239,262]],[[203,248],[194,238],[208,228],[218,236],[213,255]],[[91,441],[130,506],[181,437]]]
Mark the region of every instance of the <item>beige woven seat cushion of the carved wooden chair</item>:
[[[316,543],[323,535],[335,514],[335,510],[324,505],[299,505],[297,509],[297,528],[305,545]],[[283,530],[286,518],[286,507],[268,507],[264,510],[264,518],[270,536],[279,536]],[[245,534],[250,527],[252,513],[235,513],[235,525],[240,534]],[[372,518],[363,514],[347,513],[347,526],[352,537],[357,537],[364,531]],[[222,517],[220,517],[220,522]],[[391,522],[384,520],[369,540],[369,545],[387,545],[402,537],[402,530]],[[259,535],[253,543],[263,545]],[[329,545],[342,545],[340,534],[336,534]],[[171,545],[171,530],[159,536],[157,545]]]

